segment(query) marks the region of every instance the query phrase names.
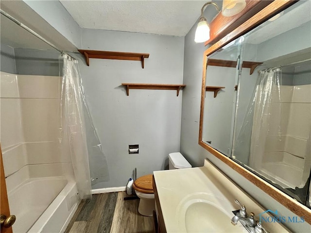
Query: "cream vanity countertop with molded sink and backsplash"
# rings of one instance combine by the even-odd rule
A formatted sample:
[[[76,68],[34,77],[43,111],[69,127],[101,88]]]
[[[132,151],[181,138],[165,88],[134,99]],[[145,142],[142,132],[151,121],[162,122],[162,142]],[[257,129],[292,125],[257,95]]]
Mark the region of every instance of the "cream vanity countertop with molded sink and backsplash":
[[[246,206],[247,213],[254,212],[256,220],[266,211],[208,160],[202,167],[155,171],[154,191],[161,233],[247,233],[240,221],[231,224],[232,211],[241,208],[235,200]],[[263,227],[271,233],[289,232],[277,222]]]

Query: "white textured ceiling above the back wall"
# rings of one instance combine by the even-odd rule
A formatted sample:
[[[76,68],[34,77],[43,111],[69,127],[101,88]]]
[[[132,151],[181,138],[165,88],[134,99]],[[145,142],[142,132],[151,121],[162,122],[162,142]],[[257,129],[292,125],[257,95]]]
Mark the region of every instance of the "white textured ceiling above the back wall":
[[[81,28],[185,36],[200,17],[201,8],[207,0],[60,2]],[[216,9],[210,8],[216,15]]]

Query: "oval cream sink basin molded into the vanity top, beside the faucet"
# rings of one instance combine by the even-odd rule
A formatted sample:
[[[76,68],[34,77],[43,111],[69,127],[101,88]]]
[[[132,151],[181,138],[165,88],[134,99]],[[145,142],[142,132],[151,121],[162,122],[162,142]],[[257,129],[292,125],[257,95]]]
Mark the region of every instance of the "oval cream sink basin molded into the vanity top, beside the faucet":
[[[180,232],[230,233],[247,232],[240,224],[231,224],[231,204],[213,194],[196,193],[186,197],[177,208],[176,220]]]

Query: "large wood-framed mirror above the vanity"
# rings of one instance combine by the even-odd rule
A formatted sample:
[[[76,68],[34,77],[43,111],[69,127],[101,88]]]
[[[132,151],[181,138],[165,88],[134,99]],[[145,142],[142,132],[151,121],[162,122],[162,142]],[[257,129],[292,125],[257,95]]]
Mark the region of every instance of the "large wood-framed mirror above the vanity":
[[[310,208],[311,2],[276,4],[205,51],[199,144],[301,214],[289,196]],[[210,85],[225,88],[213,99]]]

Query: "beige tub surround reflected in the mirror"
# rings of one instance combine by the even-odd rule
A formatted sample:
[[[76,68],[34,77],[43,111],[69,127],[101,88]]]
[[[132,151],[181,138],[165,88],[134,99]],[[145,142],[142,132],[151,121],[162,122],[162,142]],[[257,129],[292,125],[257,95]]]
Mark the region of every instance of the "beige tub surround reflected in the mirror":
[[[263,72],[269,73],[269,71],[260,71],[260,77]],[[279,68],[277,77],[281,78],[281,73]],[[273,78],[273,81],[275,80],[276,76]],[[260,93],[263,91],[262,87],[260,86]],[[283,188],[302,188],[310,176],[311,166],[311,155],[307,152],[311,140],[311,85],[271,85],[271,94],[268,98],[272,100],[271,103],[260,105],[258,105],[261,99],[259,87],[257,90],[255,105],[266,107],[255,108],[254,115],[257,117],[254,118],[252,141],[255,140],[253,137],[260,135],[261,140],[258,141],[261,143],[259,144],[261,151],[256,151],[255,145],[251,146],[249,165]],[[256,114],[258,112],[269,112],[271,116],[259,115],[258,117]],[[255,127],[260,130],[254,130]],[[269,135],[264,136],[265,127]],[[305,202],[305,200],[301,201]]]

